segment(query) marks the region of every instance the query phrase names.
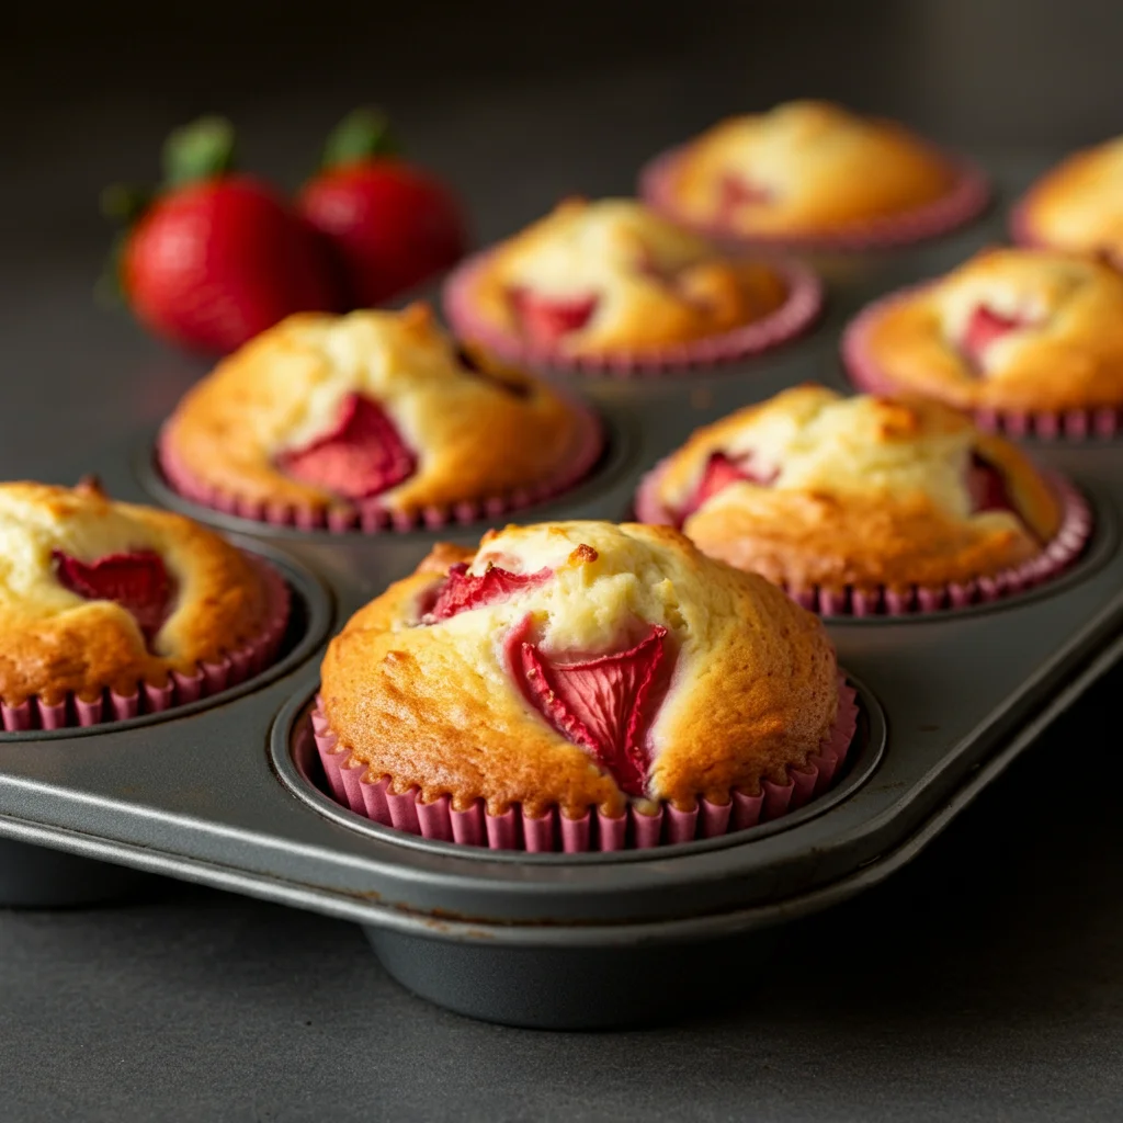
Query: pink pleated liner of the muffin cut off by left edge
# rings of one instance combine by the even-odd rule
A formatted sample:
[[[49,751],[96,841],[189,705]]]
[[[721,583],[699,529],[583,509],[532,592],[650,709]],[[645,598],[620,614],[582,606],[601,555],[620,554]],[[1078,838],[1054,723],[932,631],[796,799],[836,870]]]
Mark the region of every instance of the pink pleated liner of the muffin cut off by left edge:
[[[265,578],[270,601],[268,619],[261,634],[254,639],[213,663],[200,663],[194,674],[171,672],[163,686],[138,683],[135,694],[118,694],[107,687],[92,702],[69,694],[57,703],[48,703],[37,696],[16,706],[0,703],[0,729],[16,733],[126,721],[140,714],[161,713],[198,702],[261,674],[276,658],[289,624],[291,596],[289,586],[271,565],[259,558],[254,558],[254,562]]]

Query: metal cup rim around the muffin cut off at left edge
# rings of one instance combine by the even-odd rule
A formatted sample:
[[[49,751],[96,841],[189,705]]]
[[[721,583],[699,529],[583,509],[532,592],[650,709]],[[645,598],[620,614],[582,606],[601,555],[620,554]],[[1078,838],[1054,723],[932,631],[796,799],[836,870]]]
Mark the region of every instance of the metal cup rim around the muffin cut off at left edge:
[[[0,730],[0,741],[57,741],[75,737],[97,737],[101,733],[118,733],[189,718],[253,694],[307,663],[327,638],[335,618],[335,603],[327,586],[311,569],[280,550],[250,539],[236,538],[231,541],[239,549],[254,554],[273,566],[289,588],[289,623],[281,639],[277,658],[273,663],[234,686],[183,705],[173,705],[166,710],[138,714],[121,721],[102,721],[93,725],[25,729],[18,732]]]

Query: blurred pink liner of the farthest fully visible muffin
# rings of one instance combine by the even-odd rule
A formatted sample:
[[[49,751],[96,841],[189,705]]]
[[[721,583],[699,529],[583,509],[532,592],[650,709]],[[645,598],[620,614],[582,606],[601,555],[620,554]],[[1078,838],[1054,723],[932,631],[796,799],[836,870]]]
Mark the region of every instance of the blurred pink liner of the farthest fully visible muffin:
[[[688,150],[688,144],[660,153],[646,164],[640,171],[639,193],[645,202],[667,218],[727,244],[827,250],[887,249],[923,241],[966,226],[990,201],[990,184],[979,167],[934,145],[926,147],[956,174],[955,186],[946,195],[901,214],[868,219],[838,234],[749,235],[739,234],[720,222],[695,222],[685,218],[675,208],[670,172],[675,162]]]

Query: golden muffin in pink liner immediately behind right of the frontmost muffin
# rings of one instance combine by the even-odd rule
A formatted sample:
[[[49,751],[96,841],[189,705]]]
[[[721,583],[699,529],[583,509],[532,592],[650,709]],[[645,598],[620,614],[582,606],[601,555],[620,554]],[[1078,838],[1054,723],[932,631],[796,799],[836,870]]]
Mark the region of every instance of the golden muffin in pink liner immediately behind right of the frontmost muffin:
[[[815,385],[697,430],[643,482],[637,512],[829,611],[997,595],[1071,560],[1088,529],[1075,493],[961,413]]]

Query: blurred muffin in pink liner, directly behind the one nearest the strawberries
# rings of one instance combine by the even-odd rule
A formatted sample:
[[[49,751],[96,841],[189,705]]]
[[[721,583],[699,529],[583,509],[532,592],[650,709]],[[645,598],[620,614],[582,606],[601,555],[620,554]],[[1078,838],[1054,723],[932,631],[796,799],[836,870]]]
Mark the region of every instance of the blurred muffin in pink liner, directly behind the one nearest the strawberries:
[[[791,334],[816,307],[795,266],[721,254],[630,199],[567,200],[446,289],[463,338],[555,365],[731,358]]]

